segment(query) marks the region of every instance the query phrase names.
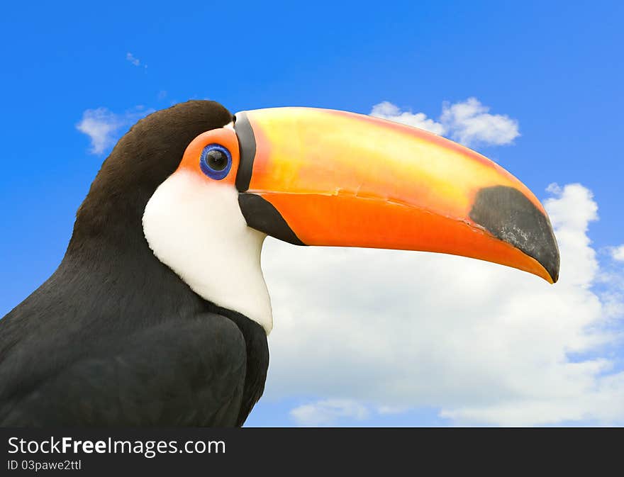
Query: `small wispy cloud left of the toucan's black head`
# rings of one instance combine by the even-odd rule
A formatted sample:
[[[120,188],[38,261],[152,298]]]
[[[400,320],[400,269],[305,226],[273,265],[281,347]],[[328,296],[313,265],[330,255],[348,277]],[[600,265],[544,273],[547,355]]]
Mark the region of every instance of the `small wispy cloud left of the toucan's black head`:
[[[115,144],[121,135],[122,128],[133,125],[153,111],[143,106],[137,106],[121,114],[113,113],[108,108],[87,109],[82,113],[82,119],[76,128],[91,139],[90,152],[99,155]]]

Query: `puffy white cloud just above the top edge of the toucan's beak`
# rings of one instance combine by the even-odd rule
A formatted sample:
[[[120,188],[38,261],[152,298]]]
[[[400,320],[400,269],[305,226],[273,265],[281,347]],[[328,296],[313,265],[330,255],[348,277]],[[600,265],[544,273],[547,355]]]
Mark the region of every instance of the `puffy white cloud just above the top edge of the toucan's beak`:
[[[489,107],[476,98],[457,103],[443,103],[438,121],[425,113],[401,111],[389,101],[373,106],[371,116],[422,128],[464,145],[508,145],[518,138],[518,121],[501,114],[490,114]]]

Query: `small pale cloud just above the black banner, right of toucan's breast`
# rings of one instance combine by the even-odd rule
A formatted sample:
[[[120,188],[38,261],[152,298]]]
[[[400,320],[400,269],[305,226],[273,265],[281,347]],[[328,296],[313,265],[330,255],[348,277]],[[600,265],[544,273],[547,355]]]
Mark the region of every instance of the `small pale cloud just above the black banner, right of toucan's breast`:
[[[369,411],[355,400],[328,399],[300,405],[291,410],[290,415],[301,426],[329,426],[345,418],[364,420],[369,416]]]

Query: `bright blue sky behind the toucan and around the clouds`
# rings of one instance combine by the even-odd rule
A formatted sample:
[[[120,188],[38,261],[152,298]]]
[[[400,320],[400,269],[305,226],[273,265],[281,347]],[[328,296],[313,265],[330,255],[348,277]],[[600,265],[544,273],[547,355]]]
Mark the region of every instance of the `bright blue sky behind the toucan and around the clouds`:
[[[610,334],[598,339],[599,344],[590,340],[591,345],[578,347],[570,337],[558,345],[565,357],[555,361],[591,367],[606,360],[610,365],[590,373],[594,381],[585,394],[577,393],[574,403],[609,386],[620,389],[600,381],[600,376],[615,376],[617,381],[623,357],[617,338],[624,330],[618,318],[621,289],[611,283],[621,283],[624,274],[624,261],[617,259],[615,248],[624,243],[623,6],[615,1],[594,1],[591,6],[558,1],[267,3],[13,2],[4,7],[0,315],[28,296],[60,262],[74,213],[109,150],[104,145],[102,154],[94,154],[89,135],[78,130],[89,117],[85,111],[106,108],[99,110],[99,118],[115,123],[111,137],[118,138],[145,111],[192,98],[215,99],[233,112],[318,106],[370,113],[389,101],[401,112],[424,113],[440,123],[443,102],[451,108],[475,98],[491,115],[507,119],[505,124],[516,124],[517,131],[512,140],[498,145],[477,138],[472,147],[497,160],[538,197],[550,197],[559,211],[562,236],[574,229],[581,242],[591,240],[578,250],[594,253],[588,260],[595,263],[577,268],[593,266],[595,276],[570,286],[577,286],[578,293],[593,291],[587,300],[597,300],[601,311],[587,318],[586,325]],[[552,183],[559,189],[547,192]],[[565,188],[576,183],[582,189]],[[599,219],[592,215],[592,204],[598,206]],[[574,224],[575,214],[582,215],[580,225]],[[577,250],[572,245],[570,249]],[[576,263],[573,255],[569,270]],[[264,257],[265,262],[270,257]],[[276,270],[267,270],[269,290]],[[341,308],[347,307],[347,298],[348,294]],[[277,312],[288,306],[279,296],[275,300],[279,327]],[[583,334],[581,325],[575,330]],[[290,356],[279,351],[288,349],[283,333],[275,337],[272,366],[280,356]],[[569,405],[574,410],[555,422],[533,414],[526,420],[506,420],[500,416],[513,399],[503,402],[502,397],[492,404],[498,405],[498,417],[492,417],[492,406],[489,414],[464,412],[478,407],[472,398],[463,405],[462,398],[436,400],[435,393],[424,391],[396,392],[386,405],[381,392],[332,387],[321,378],[316,387],[289,388],[289,372],[278,361],[274,376],[269,376],[267,397],[249,425],[624,422],[624,411],[594,415],[587,410],[594,404],[574,408],[569,400],[559,408]],[[344,372],[337,377],[341,383],[358,370]],[[449,373],[450,379],[457,376]],[[500,386],[495,388],[504,394]],[[316,405],[313,411],[322,416],[306,420],[301,417],[305,408],[293,413],[306,405]]]

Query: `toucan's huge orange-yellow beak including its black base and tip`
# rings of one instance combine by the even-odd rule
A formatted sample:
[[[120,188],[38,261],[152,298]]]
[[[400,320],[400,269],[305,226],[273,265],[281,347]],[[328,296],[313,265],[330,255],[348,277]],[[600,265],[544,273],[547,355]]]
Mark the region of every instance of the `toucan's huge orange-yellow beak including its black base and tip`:
[[[505,169],[418,128],[342,111],[235,116],[247,225],[298,245],[463,255],[554,283],[544,208]]]

